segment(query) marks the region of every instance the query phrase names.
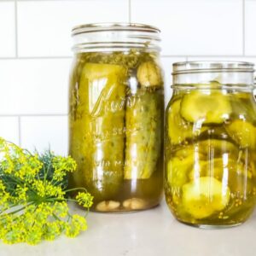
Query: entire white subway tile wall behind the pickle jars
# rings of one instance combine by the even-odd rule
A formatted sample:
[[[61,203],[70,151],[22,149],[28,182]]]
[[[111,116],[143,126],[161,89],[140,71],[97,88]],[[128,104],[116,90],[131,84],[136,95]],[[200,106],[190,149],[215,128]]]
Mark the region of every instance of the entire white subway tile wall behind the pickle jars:
[[[67,154],[73,26],[130,18],[159,26],[167,104],[173,62],[256,64],[255,14],[256,0],[0,0],[0,137]]]

